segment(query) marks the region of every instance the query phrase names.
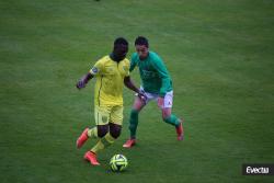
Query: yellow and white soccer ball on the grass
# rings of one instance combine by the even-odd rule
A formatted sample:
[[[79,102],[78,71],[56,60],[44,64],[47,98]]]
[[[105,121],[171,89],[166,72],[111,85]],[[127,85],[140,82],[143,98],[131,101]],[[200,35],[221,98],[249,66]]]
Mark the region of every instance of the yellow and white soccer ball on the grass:
[[[121,171],[124,171],[127,168],[128,162],[127,162],[127,159],[126,159],[125,156],[115,155],[115,156],[112,157],[112,159],[110,161],[110,165],[111,165],[112,171],[121,172]]]

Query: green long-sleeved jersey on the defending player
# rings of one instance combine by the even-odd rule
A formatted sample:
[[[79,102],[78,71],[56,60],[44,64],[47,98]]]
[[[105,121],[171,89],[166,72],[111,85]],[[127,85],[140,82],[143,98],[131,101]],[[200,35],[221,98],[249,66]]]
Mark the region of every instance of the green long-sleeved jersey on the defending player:
[[[134,53],[130,60],[129,71],[139,67],[141,85],[146,92],[160,94],[164,96],[167,92],[172,91],[172,80],[162,59],[153,52],[149,52],[148,57],[139,59],[137,53]]]

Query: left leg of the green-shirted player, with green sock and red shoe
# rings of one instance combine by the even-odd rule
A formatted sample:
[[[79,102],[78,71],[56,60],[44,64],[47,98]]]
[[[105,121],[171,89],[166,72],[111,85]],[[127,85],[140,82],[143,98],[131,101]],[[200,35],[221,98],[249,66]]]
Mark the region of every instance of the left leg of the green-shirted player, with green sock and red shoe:
[[[129,133],[130,138],[123,145],[124,148],[130,148],[136,144],[136,131],[138,126],[139,112],[146,105],[147,101],[142,101],[136,96],[129,116]]]

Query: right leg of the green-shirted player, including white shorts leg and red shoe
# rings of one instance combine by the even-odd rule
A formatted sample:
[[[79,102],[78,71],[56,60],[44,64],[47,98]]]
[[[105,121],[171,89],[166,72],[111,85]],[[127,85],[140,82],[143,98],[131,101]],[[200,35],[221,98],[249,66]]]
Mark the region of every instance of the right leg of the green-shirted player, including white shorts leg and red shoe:
[[[183,139],[182,119],[172,114],[172,103],[173,103],[173,92],[171,91],[165,94],[163,104],[161,106],[162,119],[165,123],[175,126],[178,140],[182,140]]]

